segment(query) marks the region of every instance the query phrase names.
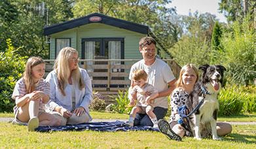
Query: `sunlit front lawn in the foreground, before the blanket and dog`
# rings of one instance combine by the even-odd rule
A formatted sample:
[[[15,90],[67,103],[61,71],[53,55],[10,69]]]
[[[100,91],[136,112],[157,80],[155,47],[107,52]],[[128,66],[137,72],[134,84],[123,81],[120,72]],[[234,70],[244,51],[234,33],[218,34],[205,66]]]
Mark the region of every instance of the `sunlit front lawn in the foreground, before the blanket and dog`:
[[[256,125],[233,125],[223,141],[185,137],[171,141],[155,131],[28,132],[26,126],[0,122],[0,148],[256,148]]]

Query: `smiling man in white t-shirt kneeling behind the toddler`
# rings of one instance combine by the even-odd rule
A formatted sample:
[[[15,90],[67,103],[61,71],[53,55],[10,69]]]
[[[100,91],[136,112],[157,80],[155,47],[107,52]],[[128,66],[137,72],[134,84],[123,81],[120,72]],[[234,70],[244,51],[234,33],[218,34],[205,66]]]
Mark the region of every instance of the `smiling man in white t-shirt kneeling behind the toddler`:
[[[143,69],[148,74],[147,82],[152,84],[156,90],[158,90],[158,97],[156,97],[153,112],[156,115],[157,120],[164,118],[168,110],[168,95],[172,93],[175,86],[175,77],[172,73],[172,69],[162,59],[156,58],[156,41],[152,37],[143,37],[139,41],[139,52],[141,52],[143,59],[137,61],[132,65],[130,70],[129,79],[131,80],[131,86],[134,86],[132,82],[132,73],[136,69]],[[147,94],[149,95],[149,93]],[[129,99],[130,99],[129,95]],[[134,125],[150,125],[153,126],[149,116],[147,114],[136,114]]]

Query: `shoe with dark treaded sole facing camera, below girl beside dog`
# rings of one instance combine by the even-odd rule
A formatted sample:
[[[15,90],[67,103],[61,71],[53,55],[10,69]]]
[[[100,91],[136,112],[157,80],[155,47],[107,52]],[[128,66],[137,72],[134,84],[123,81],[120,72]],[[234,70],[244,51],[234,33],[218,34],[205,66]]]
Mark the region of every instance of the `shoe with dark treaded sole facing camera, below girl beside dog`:
[[[164,135],[166,135],[169,139],[181,141],[181,137],[174,133],[174,131],[170,127],[170,124],[165,120],[161,119],[158,121],[158,129],[161,131],[161,133],[164,133]]]

